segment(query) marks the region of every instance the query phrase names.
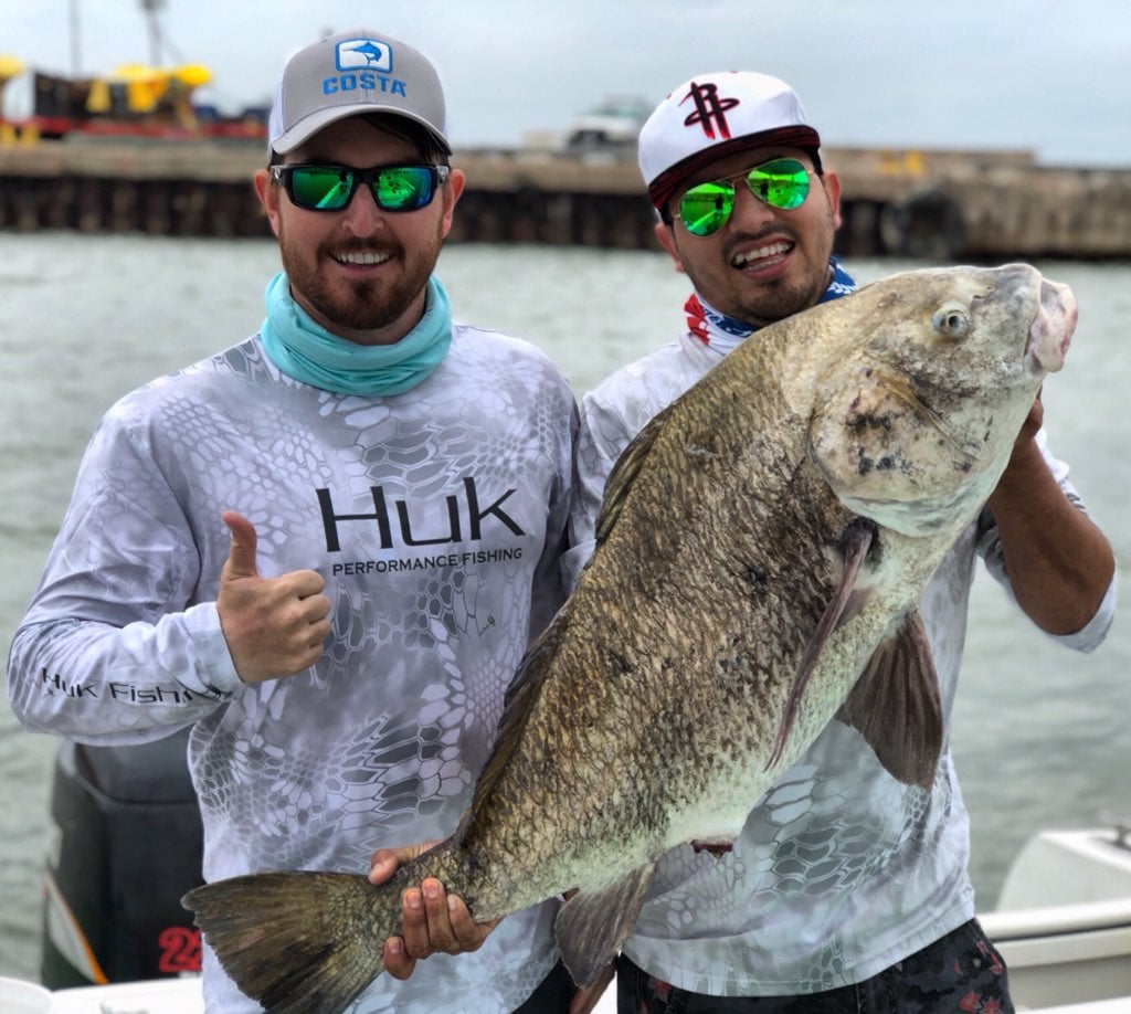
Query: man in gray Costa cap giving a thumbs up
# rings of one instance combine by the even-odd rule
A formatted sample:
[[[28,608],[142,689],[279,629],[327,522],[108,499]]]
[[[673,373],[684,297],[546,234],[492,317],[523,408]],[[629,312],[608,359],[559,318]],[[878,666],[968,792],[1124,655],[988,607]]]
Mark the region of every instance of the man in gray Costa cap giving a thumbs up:
[[[444,130],[437,71],[405,43],[348,32],[291,58],[254,178],[284,268],[266,319],[106,414],[12,642],[33,729],[124,745],[193,727],[208,880],[365,874],[450,835],[563,598],[576,404],[533,346],[452,323],[433,269],[464,178]],[[568,1008],[552,903],[485,942],[438,884],[405,904],[413,940],[425,922],[452,938],[426,951],[475,953],[380,976],[355,1014]],[[259,1009],[207,947],[204,991]]]

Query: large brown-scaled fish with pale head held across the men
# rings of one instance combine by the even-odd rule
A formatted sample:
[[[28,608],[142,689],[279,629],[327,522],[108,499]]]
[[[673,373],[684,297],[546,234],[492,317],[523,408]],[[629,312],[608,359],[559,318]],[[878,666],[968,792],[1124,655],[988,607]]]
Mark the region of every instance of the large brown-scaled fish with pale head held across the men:
[[[916,601],[1074,324],[1031,267],[958,267],[744,342],[618,462],[458,831],[381,887],[277,873],[190,892],[227,972],[269,1011],[340,1009],[382,971],[403,888],[437,877],[481,920],[578,888],[555,933],[588,985],[656,860],[733,841],[835,717],[929,785],[941,714]]]

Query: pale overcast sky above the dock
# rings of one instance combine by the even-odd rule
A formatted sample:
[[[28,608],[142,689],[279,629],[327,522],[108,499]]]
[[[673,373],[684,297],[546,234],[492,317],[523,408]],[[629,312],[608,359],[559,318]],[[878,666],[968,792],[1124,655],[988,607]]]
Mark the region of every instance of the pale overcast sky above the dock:
[[[409,42],[440,69],[457,151],[562,131],[606,95],[651,104],[697,74],[749,69],[789,81],[827,145],[1026,148],[1131,167],[1131,0],[161,6],[164,62],[210,68],[199,98],[230,112],[268,102],[283,55],[328,31]],[[0,0],[0,54],[105,74],[150,60],[149,22],[141,0]]]

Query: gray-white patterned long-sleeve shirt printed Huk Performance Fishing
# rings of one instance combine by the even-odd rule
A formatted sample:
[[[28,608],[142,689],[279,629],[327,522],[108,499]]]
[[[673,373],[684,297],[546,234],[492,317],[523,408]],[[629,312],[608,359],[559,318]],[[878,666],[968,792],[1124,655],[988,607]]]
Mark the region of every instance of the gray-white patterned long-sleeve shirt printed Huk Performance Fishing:
[[[209,880],[365,873],[374,849],[449,835],[562,601],[573,396],[533,346],[452,332],[423,383],[381,398],[283,376],[253,337],[127,396],[90,441],[9,694],[25,724],[83,742],[193,725]],[[264,576],[326,579],[334,629],[309,670],[236,676],[215,604],[225,509],[254,524]],[[512,1011],[556,961],[553,912],[380,977],[354,1009]],[[258,1009],[210,953],[205,991]]]

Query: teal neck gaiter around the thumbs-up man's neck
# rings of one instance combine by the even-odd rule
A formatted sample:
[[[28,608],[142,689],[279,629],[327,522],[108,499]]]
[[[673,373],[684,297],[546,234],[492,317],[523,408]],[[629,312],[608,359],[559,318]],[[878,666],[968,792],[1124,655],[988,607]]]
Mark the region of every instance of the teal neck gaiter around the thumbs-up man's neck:
[[[259,334],[268,359],[288,377],[336,394],[381,397],[409,390],[442,362],[451,344],[451,309],[433,275],[416,327],[391,345],[359,345],[317,324],[291,298],[279,272],[267,285]]]

